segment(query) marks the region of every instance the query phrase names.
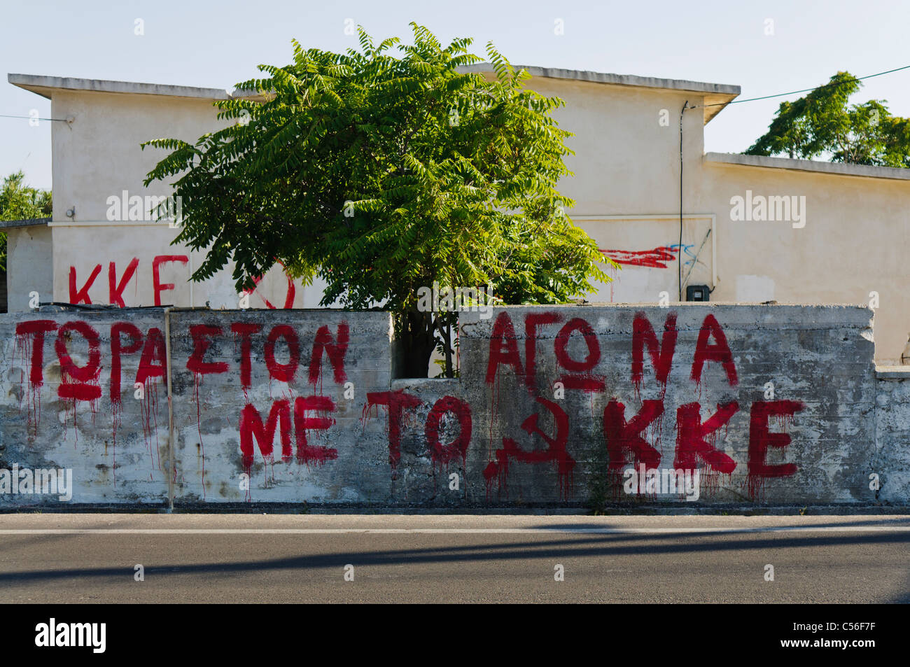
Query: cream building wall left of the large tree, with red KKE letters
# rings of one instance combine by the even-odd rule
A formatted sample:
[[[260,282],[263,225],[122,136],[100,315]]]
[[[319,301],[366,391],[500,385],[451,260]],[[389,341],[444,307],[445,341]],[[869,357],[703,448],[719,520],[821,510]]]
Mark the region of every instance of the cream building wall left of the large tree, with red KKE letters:
[[[223,126],[212,100],[56,91],[52,110],[57,115],[54,117],[74,119],[72,124],[56,124],[52,139],[54,299],[116,304],[120,298],[126,306],[135,307],[208,303],[212,308],[238,308],[241,295],[231,278],[232,264],[205,284],[191,284],[188,278],[204,255],[182,244],[171,245],[178,230],[167,223],[131,221],[122,215],[124,200],[128,214],[129,197],[170,194],[166,183],[142,185],[167,151],[154,147],[143,150],[140,145],[160,137],[195,142]],[[110,220],[109,197],[118,197],[120,206],[113,206],[124,219]],[[75,217],[67,217],[66,210],[73,207]],[[130,269],[136,260],[136,267]],[[124,280],[123,289],[118,290]],[[162,285],[174,287],[161,289]],[[291,280],[275,267],[258,283],[249,304],[252,308],[267,308],[269,304],[275,308],[313,308],[322,298],[322,287],[319,281],[307,286]]]

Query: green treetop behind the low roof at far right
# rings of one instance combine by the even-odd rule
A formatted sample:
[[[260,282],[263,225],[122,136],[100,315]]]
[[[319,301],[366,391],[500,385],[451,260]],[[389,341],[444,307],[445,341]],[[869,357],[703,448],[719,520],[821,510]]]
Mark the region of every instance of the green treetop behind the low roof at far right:
[[[808,95],[783,102],[768,132],[745,154],[910,167],[910,120],[892,116],[886,100],[849,104],[862,85],[849,72],[838,72]]]

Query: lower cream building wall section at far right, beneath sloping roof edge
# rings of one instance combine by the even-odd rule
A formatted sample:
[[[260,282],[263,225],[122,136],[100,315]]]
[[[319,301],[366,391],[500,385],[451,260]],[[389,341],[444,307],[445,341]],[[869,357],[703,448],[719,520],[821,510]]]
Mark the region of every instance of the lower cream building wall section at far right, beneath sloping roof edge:
[[[884,178],[743,167],[704,162],[700,202],[717,212],[715,300],[781,303],[870,302],[876,359],[900,363],[910,332],[910,280],[904,253],[910,182]],[[733,221],[730,199],[754,195],[805,197],[805,226],[786,221]]]

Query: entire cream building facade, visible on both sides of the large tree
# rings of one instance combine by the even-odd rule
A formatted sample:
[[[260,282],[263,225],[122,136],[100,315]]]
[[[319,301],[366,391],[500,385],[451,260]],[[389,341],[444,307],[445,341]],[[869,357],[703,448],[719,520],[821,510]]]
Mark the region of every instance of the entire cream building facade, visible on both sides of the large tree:
[[[529,85],[566,101],[555,116],[575,133],[567,141],[575,151],[567,157],[574,176],[561,184],[576,200],[570,215],[605,254],[622,262],[621,270],[612,271],[613,282],[595,286],[598,293],[589,300],[674,301],[680,274],[685,284],[713,288],[712,300],[722,302],[867,303],[870,292],[877,292],[876,359],[899,361],[910,331],[900,287],[910,278],[900,257],[910,183],[707,161],[703,110],[696,109],[682,121],[681,244],[679,114],[683,102],[699,106],[703,96],[541,77]],[[160,184],[148,191],[141,185],[165,153],[138,146],[157,136],[195,140],[215,129],[211,100],[56,91],[53,113],[75,118],[72,125],[57,123],[53,130],[54,299],[71,300],[100,266],[87,295],[93,303],[110,303],[112,263],[119,284],[136,258],[136,274],[122,298],[127,306],[154,305],[155,258],[186,256],[187,264],[162,263],[159,283],[175,288],[158,290],[160,303],[235,307],[239,297],[231,267],[207,284],[187,284],[201,257],[169,245],[175,230],[97,226],[106,221],[107,197],[123,190],[167,194],[157,189]],[[805,227],[731,220],[731,197],[746,190],[806,197]],[[67,218],[66,209],[73,206],[76,217]],[[273,268],[251,306],[316,307],[322,287],[319,281],[313,286],[298,281],[291,298],[288,278]]]

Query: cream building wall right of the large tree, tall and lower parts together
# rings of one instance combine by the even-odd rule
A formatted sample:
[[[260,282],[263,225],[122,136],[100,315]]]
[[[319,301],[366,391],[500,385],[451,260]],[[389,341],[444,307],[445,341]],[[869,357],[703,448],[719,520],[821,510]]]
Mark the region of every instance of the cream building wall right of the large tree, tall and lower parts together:
[[[679,112],[684,100],[700,105],[702,99],[554,79],[529,85],[566,101],[556,116],[577,135],[567,142],[575,150],[568,160],[575,176],[562,187],[577,200],[570,215],[623,262],[622,270],[613,272],[614,282],[598,286],[590,300],[656,302],[662,291],[675,300]],[[658,123],[662,108],[670,111],[670,126]],[[902,253],[910,181],[708,161],[700,110],[683,116],[682,157],[686,284],[714,288],[712,300],[722,302],[866,304],[875,291],[876,359],[900,363],[910,332],[903,288],[910,269]],[[805,226],[733,221],[731,197],[745,197],[746,190],[805,197]],[[705,240],[712,217],[713,238]]]

